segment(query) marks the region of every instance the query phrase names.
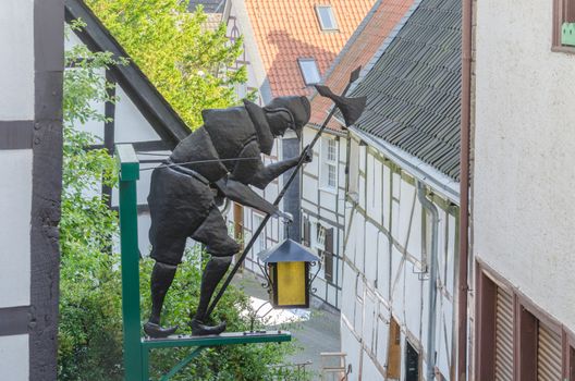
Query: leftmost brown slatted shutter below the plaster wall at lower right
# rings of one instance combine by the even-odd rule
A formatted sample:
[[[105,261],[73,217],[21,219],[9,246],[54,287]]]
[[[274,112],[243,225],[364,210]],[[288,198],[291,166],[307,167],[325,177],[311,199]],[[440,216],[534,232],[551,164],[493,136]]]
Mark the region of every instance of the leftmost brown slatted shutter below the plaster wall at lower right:
[[[513,380],[513,296],[497,290],[496,380]]]

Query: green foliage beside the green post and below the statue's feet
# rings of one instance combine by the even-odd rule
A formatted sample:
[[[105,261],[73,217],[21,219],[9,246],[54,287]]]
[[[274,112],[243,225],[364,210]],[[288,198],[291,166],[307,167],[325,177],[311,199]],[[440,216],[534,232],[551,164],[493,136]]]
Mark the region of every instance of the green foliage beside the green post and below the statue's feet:
[[[81,27],[78,23],[74,27]],[[64,165],[62,220],[60,223],[60,325],[59,380],[122,380],[122,315],[120,256],[110,254],[118,239],[118,216],[106,205],[101,185],[117,182],[115,164],[106,150],[86,150],[101,143],[77,127],[89,121],[103,122],[96,102],[117,99],[108,95],[103,70],[124,64],[109,53],[93,53],[75,47],[65,53]],[[189,314],[196,309],[201,276],[201,253],[187,253],[166,300],[167,323],[189,332]],[[140,266],[142,310],[149,310],[149,274],[154,261]],[[250,310],[247,296],[231,286],[215,311],[230,331],[248,329],[241,311]],[[145,318],[145,316],[143,316]],[[256,322],[256,327],[261,323]],[[189,349],[155,349],[151,373],[166,373]],[[270,367],[293,353],[292,343],[237,345],[208,348],[176,380],[303,380],[294,371]]]

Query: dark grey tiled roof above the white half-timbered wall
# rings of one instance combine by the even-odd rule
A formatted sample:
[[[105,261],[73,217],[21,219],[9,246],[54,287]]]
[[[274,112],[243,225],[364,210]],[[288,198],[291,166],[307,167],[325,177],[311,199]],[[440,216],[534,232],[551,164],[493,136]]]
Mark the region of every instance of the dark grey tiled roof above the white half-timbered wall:
[[[461,0],[421,0],[353,96],[355,127],[460,177]]]

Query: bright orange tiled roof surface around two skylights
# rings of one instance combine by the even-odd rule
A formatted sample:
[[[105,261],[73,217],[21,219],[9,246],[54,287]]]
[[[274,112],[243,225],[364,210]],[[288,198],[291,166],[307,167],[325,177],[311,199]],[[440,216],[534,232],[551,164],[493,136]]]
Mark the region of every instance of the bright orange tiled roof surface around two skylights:
[[[310,95],[298,58],[325,74],[376,0],[244,0],[273,97]],[[338,30],[320,28],[315,5],[330,4]]]

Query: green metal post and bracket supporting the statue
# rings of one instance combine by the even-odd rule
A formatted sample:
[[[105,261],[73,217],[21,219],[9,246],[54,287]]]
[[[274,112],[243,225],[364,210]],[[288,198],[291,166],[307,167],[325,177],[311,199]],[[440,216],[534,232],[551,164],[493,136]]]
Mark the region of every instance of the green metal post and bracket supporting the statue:
[[[282,343],[292,340],[288,331],[230,332],[213,336],[174,335],[167,339],[142,337],[139,310],[139,249],[137,237],[137,188],[139,161],[134,147],[115,146],[120,170],[120,248],[122,251],[122,316],[124,322],[124,369],[126,381],[149,381],[150,349],[195,347],[161,380],[171,379],[208,346]]]

